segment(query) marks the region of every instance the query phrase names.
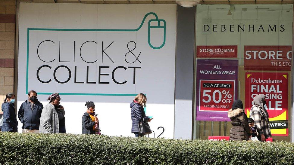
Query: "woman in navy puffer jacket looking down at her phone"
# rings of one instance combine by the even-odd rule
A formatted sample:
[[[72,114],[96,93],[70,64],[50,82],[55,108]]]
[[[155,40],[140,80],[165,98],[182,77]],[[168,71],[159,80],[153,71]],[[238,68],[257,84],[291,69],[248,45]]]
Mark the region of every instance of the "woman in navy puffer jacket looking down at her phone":
[[[132,133],[135,134],[135,137],[139,136],[139,127],[138,123],[144,119],[144,121],[150,122],[148,116],[145,115],[144,108],[146,106],[147,98],[143,93],[138,94],[133,102],[130,104],[131,109],[131,118],[132,118]]]

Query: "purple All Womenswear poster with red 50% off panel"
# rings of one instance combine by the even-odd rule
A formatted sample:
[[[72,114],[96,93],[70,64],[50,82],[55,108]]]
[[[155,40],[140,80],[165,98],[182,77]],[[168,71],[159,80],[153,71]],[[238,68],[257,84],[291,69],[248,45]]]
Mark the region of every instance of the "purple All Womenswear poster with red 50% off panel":
[[[238,60],[197,60],[196,120],[230,121],[238,98]]]

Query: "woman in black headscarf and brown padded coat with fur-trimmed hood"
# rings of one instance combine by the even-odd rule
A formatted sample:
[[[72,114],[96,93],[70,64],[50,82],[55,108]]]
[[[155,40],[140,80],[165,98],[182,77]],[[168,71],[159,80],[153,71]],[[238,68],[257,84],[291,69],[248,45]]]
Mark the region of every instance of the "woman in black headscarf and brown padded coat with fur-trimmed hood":
[[[248,125],[248,118],[243,111],[241,100],[235,100],[232,109],[228,111],[228,117],[231,119],[232,128],[230,130],[230,140],[243,141],[248,140],[252,135],[252,130]]]

